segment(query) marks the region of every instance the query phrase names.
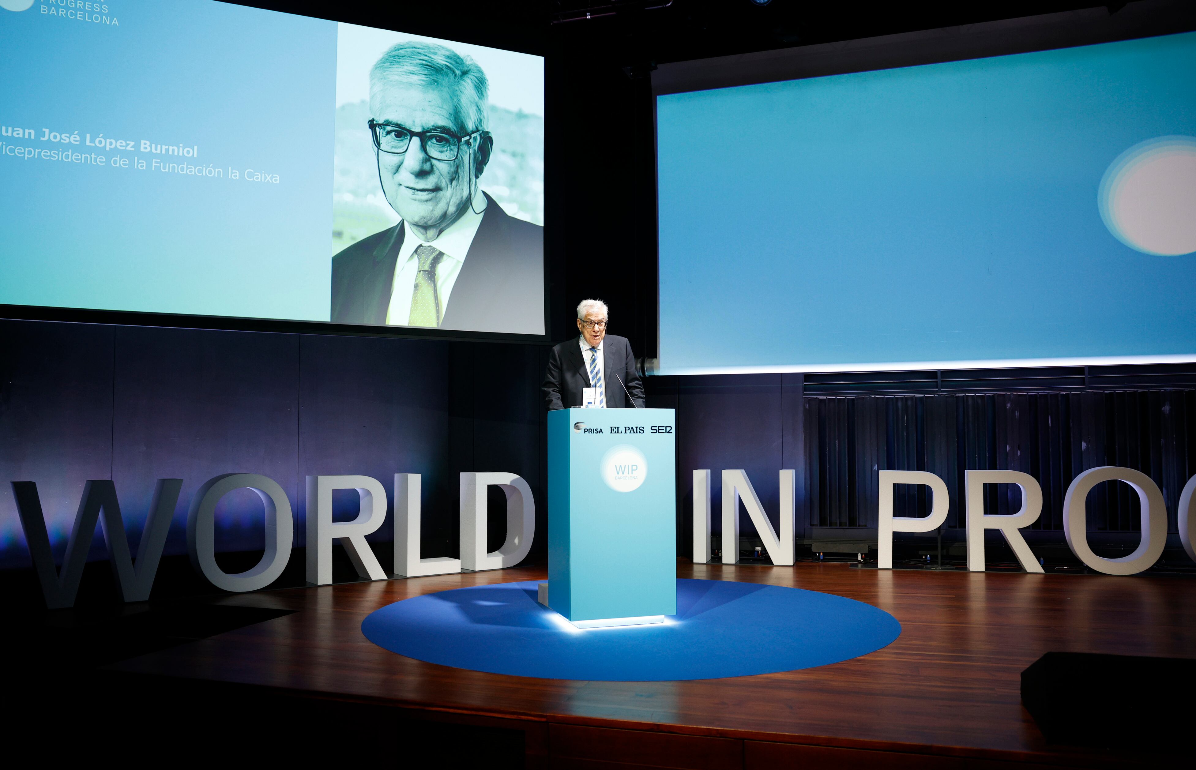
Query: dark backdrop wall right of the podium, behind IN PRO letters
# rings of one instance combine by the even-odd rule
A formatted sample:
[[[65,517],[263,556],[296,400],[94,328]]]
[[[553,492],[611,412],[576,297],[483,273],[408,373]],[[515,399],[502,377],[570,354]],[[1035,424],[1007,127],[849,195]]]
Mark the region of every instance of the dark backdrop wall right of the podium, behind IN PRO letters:
[[[964,470],[1023,471],[1043,489],[1043,513],[1027,539],[1064,556],[1063,496],[1081,471],[1118,465],[1154,479],[1167,502],[1168,546],[1176,548],[1176,505],[1196,473],[1194,365],[659,377],[648,385],[649,407],[677,409],[677,551],[684,556],[692,542],[694,469],[712,470],[715,533],[721,470],[748,471],[774,526],[777,471],[797,470],[798,536],[816,551],[875,544],[878,470],[940,476],[951,499],[944,530],[952,542],[964,536]],[[898,487],[895,506],[897,515],[929,513],[920,487]],[[988,513],[1019,507],[1017,488],[987,488]],[[742,507],[739,517],[751,536]],[[1094,546],[1136,548],[1139,502],[1128,485],[1097,488],[1088,530]]]

